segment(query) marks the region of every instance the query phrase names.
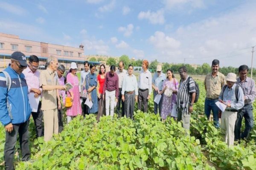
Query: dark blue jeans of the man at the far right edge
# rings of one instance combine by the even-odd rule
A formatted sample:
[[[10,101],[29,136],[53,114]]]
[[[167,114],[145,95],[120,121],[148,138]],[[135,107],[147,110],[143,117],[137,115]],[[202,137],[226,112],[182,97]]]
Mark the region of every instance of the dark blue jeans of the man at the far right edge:
[[[245,120],[244,132],[240,134],[242,120]],[[235,140],[247,139],[250,131],[253,128],[253,106],[252,104],[244,105],[241,111],[237,113],[236,125],[235,125]]]

